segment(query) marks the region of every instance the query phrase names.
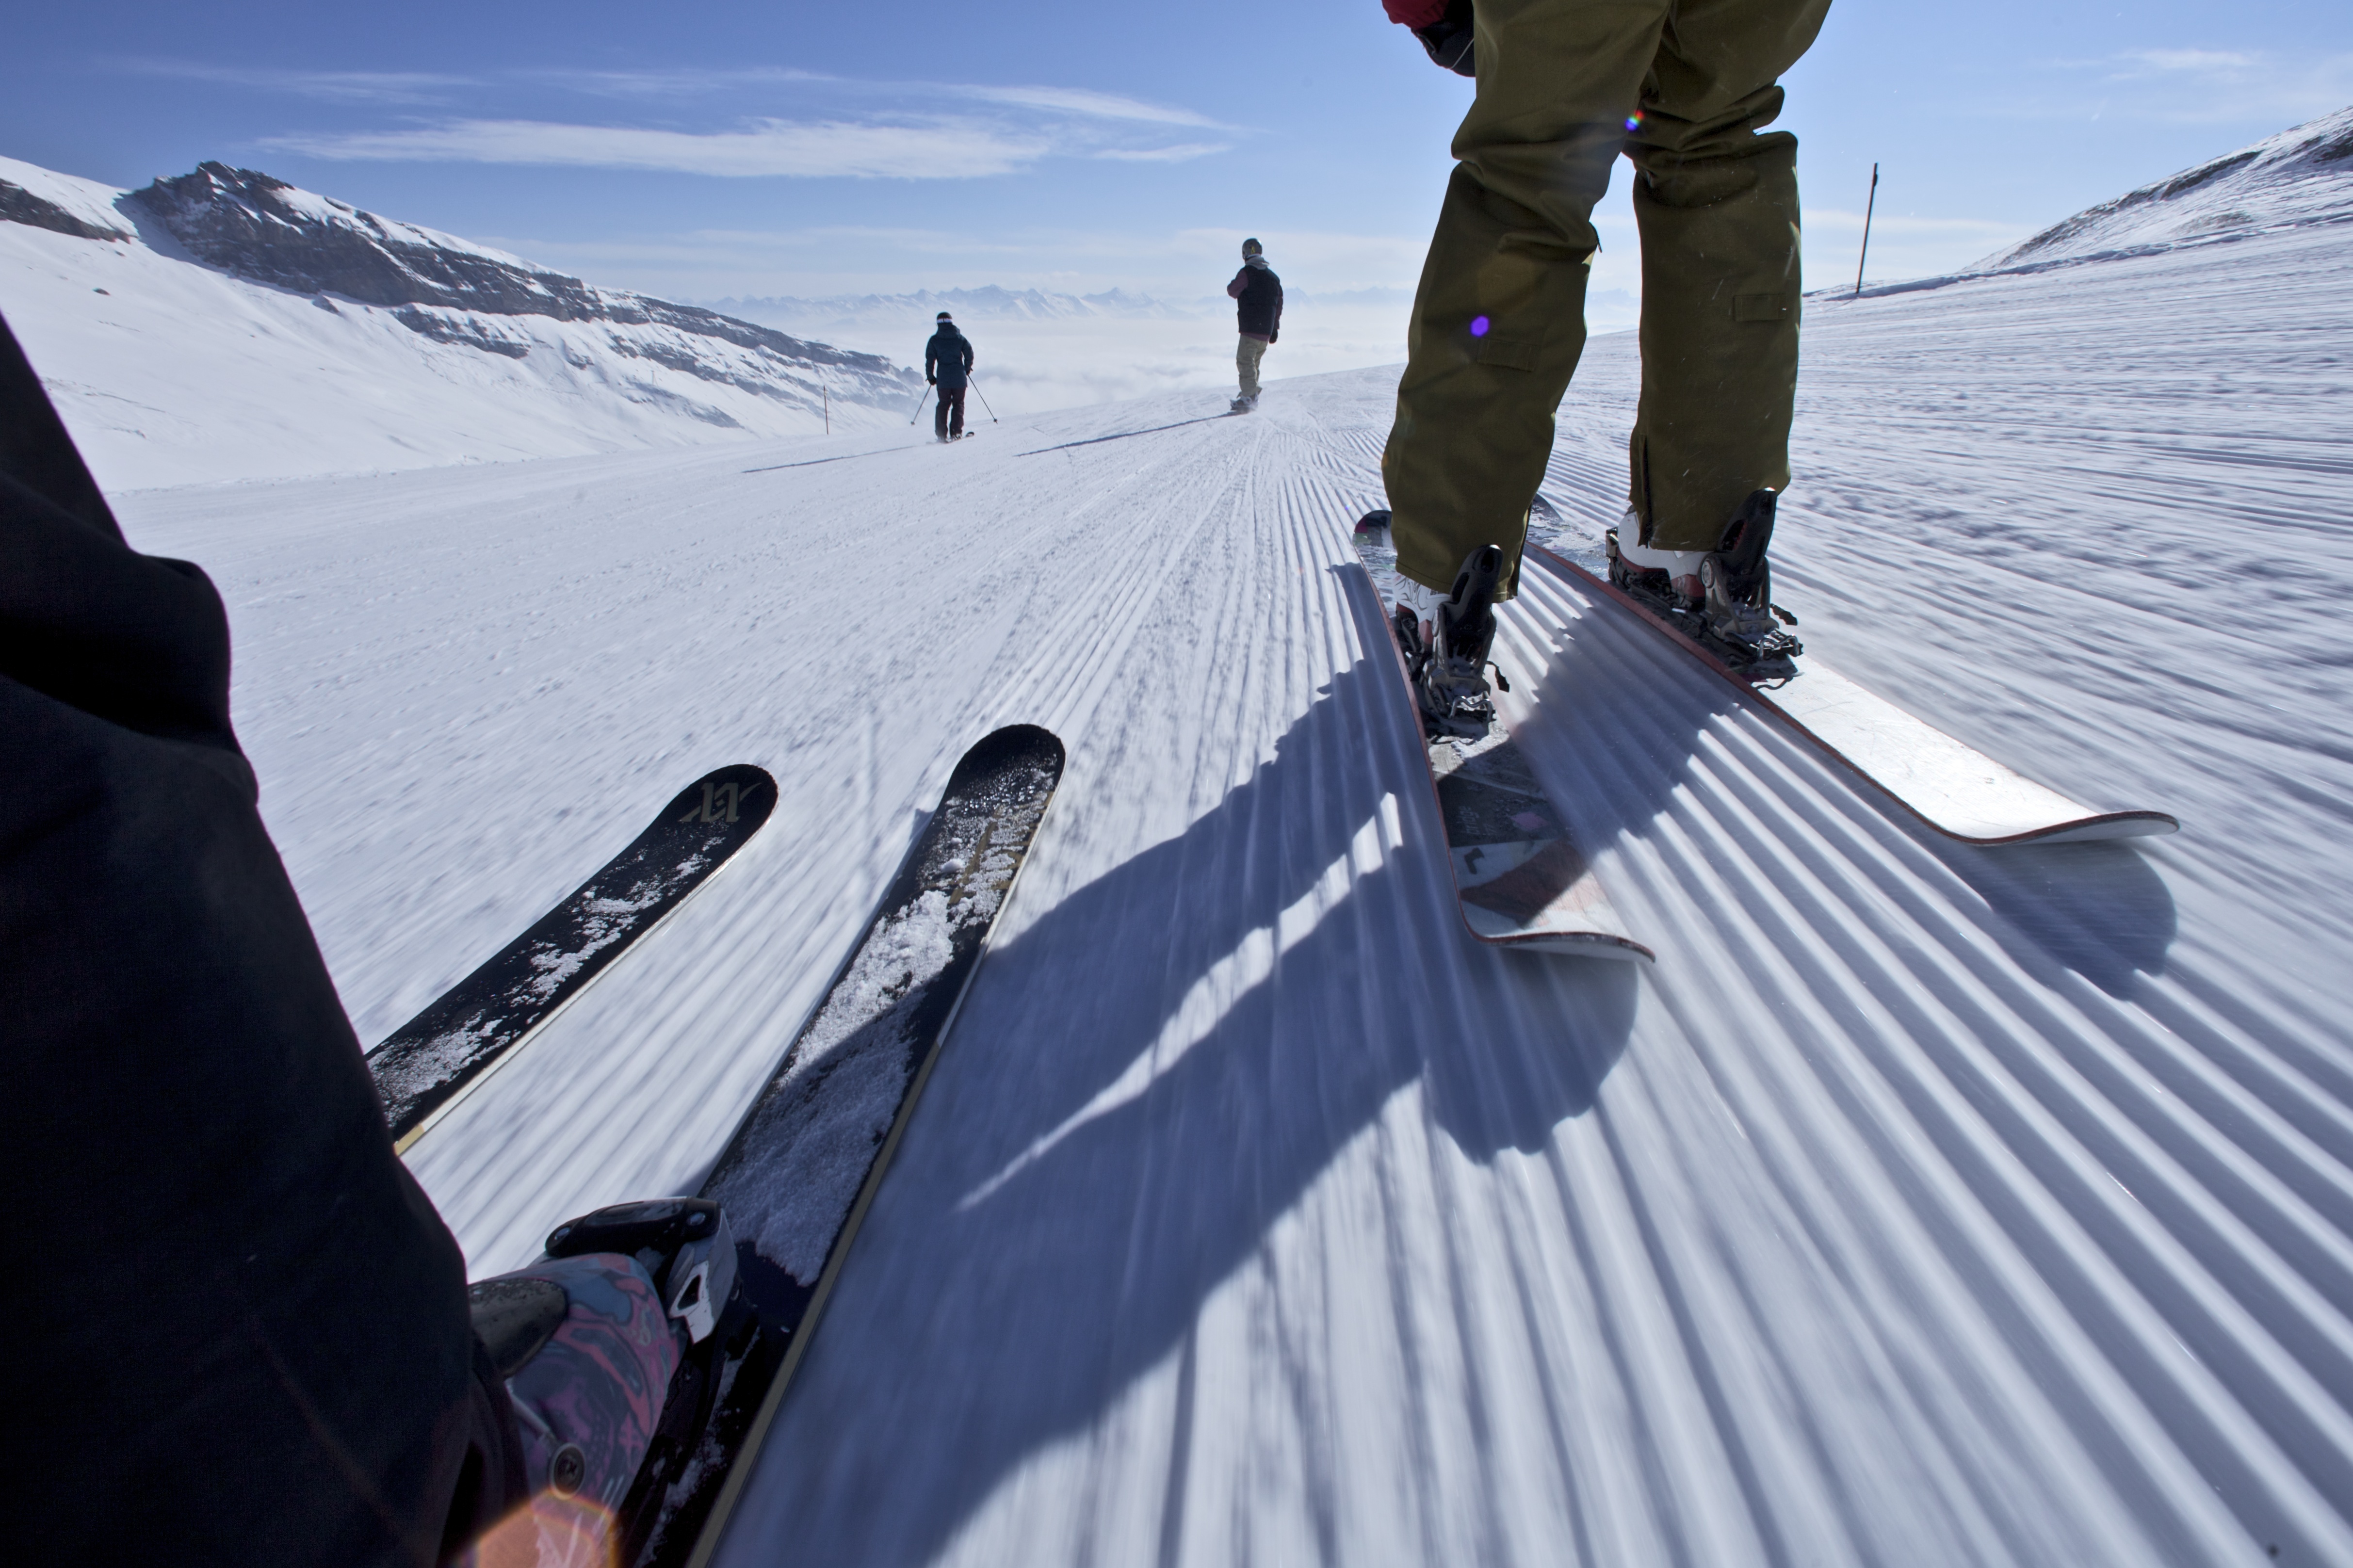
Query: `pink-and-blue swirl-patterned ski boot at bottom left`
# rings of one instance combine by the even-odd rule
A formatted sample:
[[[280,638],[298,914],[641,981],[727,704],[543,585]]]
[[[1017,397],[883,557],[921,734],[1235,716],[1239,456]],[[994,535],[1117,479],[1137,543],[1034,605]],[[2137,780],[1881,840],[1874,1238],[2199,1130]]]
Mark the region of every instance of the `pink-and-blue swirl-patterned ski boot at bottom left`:
[[[499,1544],[586,1533],[609,1542],[609,1561],[638,1561],[711,1422],[725,1361],[758,1328],[727,1215],[708,1198],[600,1208],[466,1300],[513,1398],[532,1497],[499,1526],[518,1540]]]

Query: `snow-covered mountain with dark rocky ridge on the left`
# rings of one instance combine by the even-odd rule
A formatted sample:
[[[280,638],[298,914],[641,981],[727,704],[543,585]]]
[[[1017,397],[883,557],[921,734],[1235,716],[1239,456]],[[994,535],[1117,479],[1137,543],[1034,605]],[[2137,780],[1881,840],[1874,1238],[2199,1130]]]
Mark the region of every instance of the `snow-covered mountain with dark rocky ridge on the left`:
[[[0,311],[111,490],[816,433],[922,388],[219,162],[0,158]]]

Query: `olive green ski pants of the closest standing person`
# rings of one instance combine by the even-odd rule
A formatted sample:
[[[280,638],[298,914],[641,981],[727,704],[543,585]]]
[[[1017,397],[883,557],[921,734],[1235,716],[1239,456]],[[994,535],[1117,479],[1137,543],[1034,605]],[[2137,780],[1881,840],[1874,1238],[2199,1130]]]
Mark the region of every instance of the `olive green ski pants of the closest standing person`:
[[[1798,388],[1798,139],[1758,134],[1831,0],[1478,0],[1478,99],[1421,264],[1381,454],[1398,570],[1445,591],[1501,544],[1518,589],[1553,410],[1586,346],[1593,202],[1633,160],[1642,539],[1708,551],[1788,485]]]

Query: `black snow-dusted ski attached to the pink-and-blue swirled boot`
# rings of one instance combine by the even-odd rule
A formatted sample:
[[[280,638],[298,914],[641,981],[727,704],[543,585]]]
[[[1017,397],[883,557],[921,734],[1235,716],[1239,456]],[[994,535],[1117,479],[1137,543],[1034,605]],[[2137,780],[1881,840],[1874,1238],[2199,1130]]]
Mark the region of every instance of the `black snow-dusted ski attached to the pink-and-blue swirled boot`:
[[[751,1314],[729,1335],[718,1408],[640,1563],[699,1568],[718,1549],[746,1460],[906,1135],[1061,763],[1061,742],[1035,725],[995,730],[965,751],[866,939],[704,1182],[701,1196],[725,1205],[736,1236]]]

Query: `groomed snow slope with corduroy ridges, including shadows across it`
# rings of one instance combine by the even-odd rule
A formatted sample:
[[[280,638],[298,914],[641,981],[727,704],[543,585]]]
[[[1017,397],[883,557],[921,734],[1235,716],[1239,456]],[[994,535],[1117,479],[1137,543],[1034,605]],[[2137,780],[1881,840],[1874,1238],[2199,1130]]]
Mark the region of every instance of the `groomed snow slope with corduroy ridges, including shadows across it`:
[[[689,1189],[958,753],[1068,744],[729,1563],[2353,1561],[2341,233],[1812,311],[1807,643],[2179,838],[1934,843],[1532,574],[1522,735],[1659,963],[1471,944],[1348,565],[1395,370],[125,513],[228,598],[365,1041],[781,784],[412,1151],[478,1274]],[[1569,546],[1631,400],[1595,339]]]

